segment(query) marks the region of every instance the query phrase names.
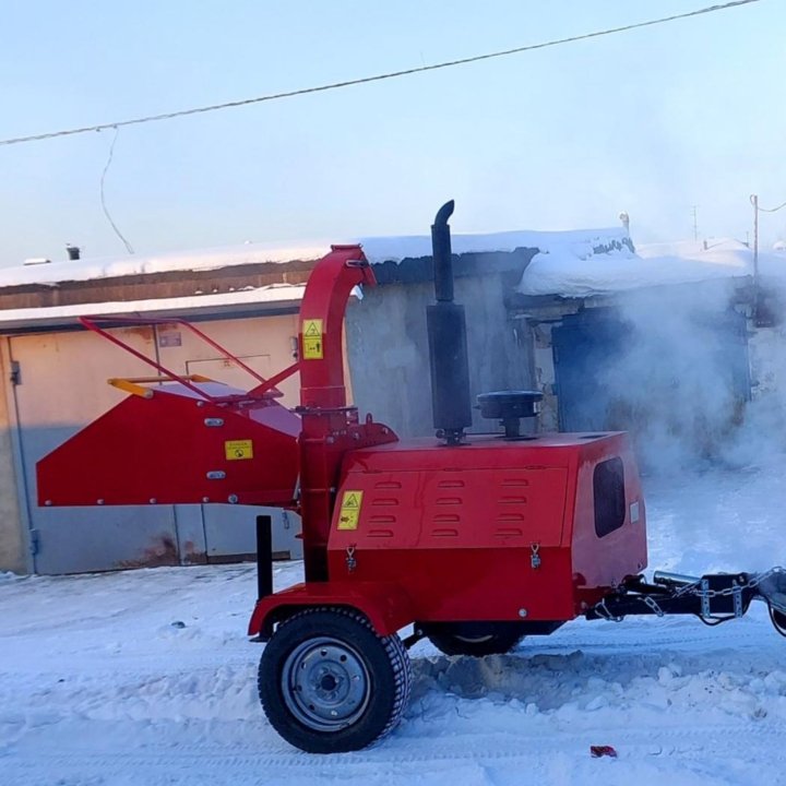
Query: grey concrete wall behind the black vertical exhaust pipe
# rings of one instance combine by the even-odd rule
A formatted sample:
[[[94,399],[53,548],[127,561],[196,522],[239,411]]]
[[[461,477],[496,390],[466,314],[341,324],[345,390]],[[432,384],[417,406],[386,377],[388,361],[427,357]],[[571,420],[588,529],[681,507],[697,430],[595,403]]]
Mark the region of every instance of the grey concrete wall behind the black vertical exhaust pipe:
[[[478,393],[532,385],[529,334],[509,319],[504,298],[510,276],[491,272],[456,278],[455,299],[466,308],[473,405]],[[355,404],[361,416],[391,426],[400,437],[433,432],[426,306],[433,284],[368,288],[347,311],[347,347]],[[493,427],[474,413],[474,430]]]

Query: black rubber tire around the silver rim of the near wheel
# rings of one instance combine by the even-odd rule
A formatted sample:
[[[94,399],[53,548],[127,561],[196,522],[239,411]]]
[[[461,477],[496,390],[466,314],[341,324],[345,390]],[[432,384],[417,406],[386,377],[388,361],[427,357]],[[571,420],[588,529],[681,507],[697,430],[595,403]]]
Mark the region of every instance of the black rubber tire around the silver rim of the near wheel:
[[[284,669],[290,655],[310,640],[330,636],[346,642],[368,674],[366,706],[349,725],[320,730],[303,723],[288,706]],[[266,644],[259,667],[258,688],[265,715],[290,745],[308,753],[360,750],[395,728],[409,699],[409,655],[396,635],[379,636],[362,615],[352,609],[313,608],[282,622]],[[295,695],[291,693],[291,695]]]

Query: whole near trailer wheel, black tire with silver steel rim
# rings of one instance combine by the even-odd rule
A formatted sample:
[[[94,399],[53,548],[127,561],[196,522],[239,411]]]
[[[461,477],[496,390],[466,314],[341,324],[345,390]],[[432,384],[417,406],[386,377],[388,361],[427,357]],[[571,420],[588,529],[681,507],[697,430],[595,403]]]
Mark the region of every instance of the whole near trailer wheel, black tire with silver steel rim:
[[[409,656],[396,634],[378,636],[349,609],[300,611],[262,653],[259,695],[275,730],[309,753],[366,748],[400,722]]]

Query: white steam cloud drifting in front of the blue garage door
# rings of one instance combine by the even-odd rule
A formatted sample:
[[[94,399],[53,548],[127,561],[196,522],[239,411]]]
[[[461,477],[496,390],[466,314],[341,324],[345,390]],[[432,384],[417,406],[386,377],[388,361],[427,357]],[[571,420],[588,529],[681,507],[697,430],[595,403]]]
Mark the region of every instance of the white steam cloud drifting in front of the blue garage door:
[[[624,298],[622,352],[599,371],[608,427],[630,430],[644,467],[672,472],[726,458],[742,425],[745,330],[722,287],[654,288]]]

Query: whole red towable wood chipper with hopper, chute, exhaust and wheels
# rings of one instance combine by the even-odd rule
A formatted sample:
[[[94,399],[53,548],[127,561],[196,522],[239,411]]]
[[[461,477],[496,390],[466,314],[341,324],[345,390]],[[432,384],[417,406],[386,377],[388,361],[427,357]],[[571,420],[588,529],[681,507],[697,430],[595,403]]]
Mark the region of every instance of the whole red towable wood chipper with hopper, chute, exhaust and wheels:
[[[131,395],[38,464],[45,505],[239,502],[301,515],[305,582],[278,593],[270,517],[258,517],[249,635],[266,642],[264,711],[306,751],[357,750],[388,734],[409,693],[407,650],[424,636],[449,655],[479,656],[576,617],[690,614],[716,624],[753,598],[786,630],[778,568],[644,577],[645,507],[626,434],[522,428],[536,422],[540,394],[532,391],[478,396],[498,428],[466,433],[452,212],[449,202],[431,227],[436,438],[400,441],[347,405],[344,312],[353,288],[374,276],[359,246],[334,246],[309,278],[294,366],[246,392],[148,361],[165,383],[112,380]],[[289,412],[275,385],[295,371],[300,406]]]

